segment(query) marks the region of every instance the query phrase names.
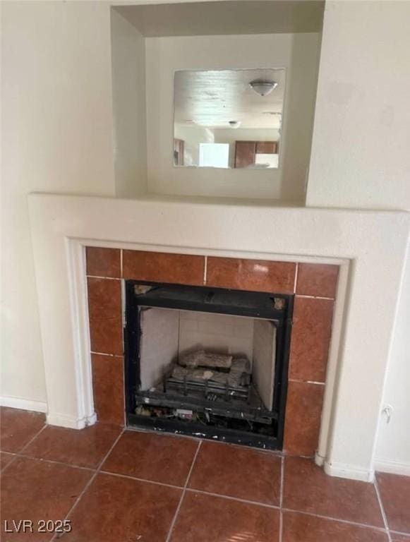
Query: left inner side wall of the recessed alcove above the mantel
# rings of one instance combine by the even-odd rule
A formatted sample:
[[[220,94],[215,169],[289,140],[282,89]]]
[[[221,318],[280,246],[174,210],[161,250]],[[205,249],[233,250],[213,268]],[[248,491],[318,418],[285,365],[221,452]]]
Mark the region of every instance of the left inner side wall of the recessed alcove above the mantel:
[[[145,38],[111,9],[112,93],[116,195],[147,191]]]

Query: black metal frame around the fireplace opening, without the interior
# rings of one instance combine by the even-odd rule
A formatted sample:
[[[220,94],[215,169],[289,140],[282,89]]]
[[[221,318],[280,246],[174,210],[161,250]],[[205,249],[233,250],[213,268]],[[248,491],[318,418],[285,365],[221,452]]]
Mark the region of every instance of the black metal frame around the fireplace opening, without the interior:
[[[149,286],[153,289],[146,294],[135,295],[136,285]],[[284,308],[275,307],[274,298],[275,300],[282,299]],[[236,299],[239,303],[245,299],[246,306],[236,305]],[[212,438],[212,440],[234,442],[270,450],[282,450],[294,306],[293,295],[126,280],[125,303],[124,380],[128,426],[151,428],[152,430],[199,438]],[[277,323],[277,353],[273,412],[275,413],[277,430],[274,436],[230,428],[207,427],[191,421],[168,420],[135,414],[136,395],[138,385],[140,385],[140,308],[147,306],[275,320]]]

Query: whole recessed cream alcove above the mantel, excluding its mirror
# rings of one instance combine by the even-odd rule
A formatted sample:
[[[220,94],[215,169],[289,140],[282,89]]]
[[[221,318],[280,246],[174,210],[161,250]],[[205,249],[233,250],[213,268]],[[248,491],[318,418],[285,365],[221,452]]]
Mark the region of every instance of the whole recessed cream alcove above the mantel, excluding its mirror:
[[[304,205],[323,8],[320,1],[111,8],[117,196]],[[278,169],[174,167],[174,73],[251,68],[286,72]],[[245,138],[240,129],[232,134]]]

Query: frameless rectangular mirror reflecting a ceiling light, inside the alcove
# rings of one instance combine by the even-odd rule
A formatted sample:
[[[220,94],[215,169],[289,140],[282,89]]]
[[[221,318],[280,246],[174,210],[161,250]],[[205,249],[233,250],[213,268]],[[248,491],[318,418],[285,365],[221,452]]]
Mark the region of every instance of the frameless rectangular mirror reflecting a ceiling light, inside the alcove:
[[[284,69],[176,71],[174,166],[277,168],[284,83]]]

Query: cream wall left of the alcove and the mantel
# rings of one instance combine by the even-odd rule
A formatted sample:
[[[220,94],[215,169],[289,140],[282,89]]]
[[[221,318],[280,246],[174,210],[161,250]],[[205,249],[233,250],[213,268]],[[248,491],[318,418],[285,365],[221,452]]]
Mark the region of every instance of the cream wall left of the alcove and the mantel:
[[[27,195],[114,195],[109,24],[100,2],[1,4],[0,393],[10,404],[47,400]]]

